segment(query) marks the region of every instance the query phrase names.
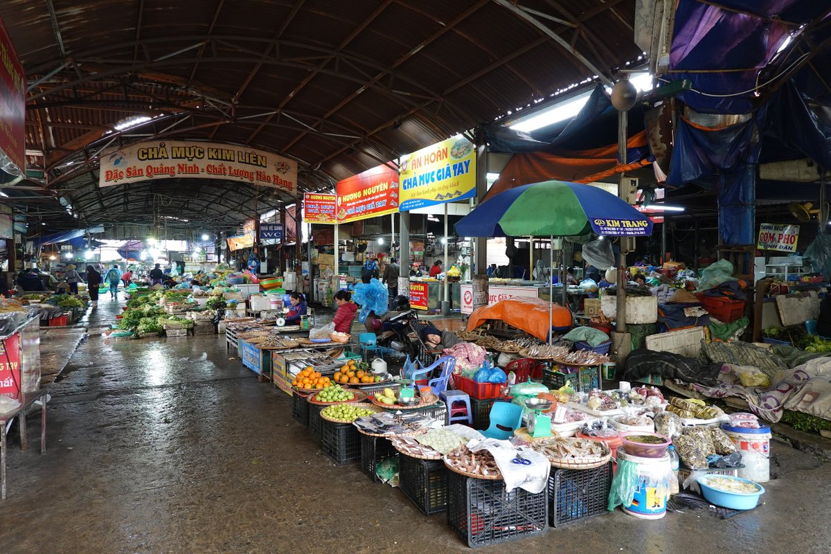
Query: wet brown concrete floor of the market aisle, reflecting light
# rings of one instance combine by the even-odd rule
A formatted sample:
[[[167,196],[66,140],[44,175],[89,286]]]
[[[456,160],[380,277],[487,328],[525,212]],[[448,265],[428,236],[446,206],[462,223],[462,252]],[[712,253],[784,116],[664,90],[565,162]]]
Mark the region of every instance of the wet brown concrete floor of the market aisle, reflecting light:
[[[110,321],[102,301],[91,325]],[[0,552],[466,552],[358,466],[337,467],[288,395],[225,354],[223,336],[91,336],[52,390],[47,453],[12,438]],[[774,443],[765,504],[644,521],[622,512],[482,552],[829,552],[831,465]]]

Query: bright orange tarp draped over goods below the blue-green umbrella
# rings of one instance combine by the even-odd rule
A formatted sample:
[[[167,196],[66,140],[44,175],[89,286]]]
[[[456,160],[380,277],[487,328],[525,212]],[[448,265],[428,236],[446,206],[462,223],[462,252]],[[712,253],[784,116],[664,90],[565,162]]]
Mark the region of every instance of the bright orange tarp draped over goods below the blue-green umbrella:
[[[548,301],[542,298],[514,297],[500,300],[493,306],[476,308],[470,314],[467,330],[473,331],[491,319],[502,320],[529,335],[536,336],[541,341],[548,340],[548,326],[545,325],[545,321],[548,320]],[[569,327],[571,324],[571,311],[555,302],[551,312],[551,325]]]

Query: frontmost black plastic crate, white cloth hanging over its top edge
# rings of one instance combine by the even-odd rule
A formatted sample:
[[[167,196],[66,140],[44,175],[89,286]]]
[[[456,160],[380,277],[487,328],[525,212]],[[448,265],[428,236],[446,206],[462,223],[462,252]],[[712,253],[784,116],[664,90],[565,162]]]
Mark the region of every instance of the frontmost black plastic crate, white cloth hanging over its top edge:
[[[447,522],[469,547],[532,537],[548,529],[548,491],[509,493],[501,479],[448,471]]]

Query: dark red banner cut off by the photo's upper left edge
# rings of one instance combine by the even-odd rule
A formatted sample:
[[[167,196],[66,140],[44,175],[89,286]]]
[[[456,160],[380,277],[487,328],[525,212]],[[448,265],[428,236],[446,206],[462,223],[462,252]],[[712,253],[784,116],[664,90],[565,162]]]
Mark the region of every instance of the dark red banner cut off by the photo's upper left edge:
[[[0,161],[26,171],[26,73],[0,20]]]

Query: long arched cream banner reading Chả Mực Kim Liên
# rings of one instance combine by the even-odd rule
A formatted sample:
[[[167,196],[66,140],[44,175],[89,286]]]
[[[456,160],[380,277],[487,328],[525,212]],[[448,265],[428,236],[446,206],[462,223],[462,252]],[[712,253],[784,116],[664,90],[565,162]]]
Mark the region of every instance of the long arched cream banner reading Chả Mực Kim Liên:
[[[238,181],[297,194],[297,163],[263,150],[154,140],[101,154],[101,187],[173,178]]]

